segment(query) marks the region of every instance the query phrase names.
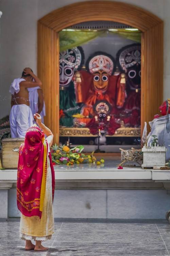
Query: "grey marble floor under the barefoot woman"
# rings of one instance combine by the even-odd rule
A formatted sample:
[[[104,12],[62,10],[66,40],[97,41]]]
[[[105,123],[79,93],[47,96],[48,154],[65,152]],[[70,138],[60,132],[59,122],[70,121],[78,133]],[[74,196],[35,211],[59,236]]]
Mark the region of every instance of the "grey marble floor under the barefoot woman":
[[[0,256],[170,256],[166,221],[55,220],[46,252],[24,251],[19,219],[0,221]]]

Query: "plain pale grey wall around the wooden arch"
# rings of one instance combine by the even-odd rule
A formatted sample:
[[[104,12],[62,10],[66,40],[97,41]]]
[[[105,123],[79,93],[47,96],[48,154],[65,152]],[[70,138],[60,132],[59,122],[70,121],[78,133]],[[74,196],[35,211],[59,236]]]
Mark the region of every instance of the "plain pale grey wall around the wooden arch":
[[[83,1],[83,0],[81,0]],[[9,86],[24,67],[36,72],[37,20],[80,0],[1,0],[0,118],[10,113]],[[164,20],[164,98],[170,98],[170,0],[120,0],[140,6]],[[128,17],[128,14],[127,14]],[[58,21],[60,22],[60,21]]]

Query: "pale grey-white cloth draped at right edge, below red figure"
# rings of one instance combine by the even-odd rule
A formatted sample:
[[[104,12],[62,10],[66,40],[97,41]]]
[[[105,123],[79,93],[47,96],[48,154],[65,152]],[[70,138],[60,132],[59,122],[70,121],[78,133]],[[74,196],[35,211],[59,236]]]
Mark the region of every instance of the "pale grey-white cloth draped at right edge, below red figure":
[[[147,142],[150,144],[150,142],[152,143],[153,140],[152,135],[157,135],[159,146],[165,146],[167,148],[168,151],[166,152],[166,161],[170,159],[170,136],[166,129],[167,122],[169,122],[167,115],[153,119],[151,122],[149,122],[151,132],[147,136]]]

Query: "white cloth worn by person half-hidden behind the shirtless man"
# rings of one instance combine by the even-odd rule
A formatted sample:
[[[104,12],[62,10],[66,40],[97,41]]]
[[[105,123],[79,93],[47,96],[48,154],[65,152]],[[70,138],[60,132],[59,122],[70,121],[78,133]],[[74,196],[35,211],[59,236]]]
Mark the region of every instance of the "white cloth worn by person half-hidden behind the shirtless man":
[[[38,112],[38,91],[37,91],[38,89],[41,89],[41,88],[39,86],[28,88],[30,108],[33,115]],[[43,110],[41,111],[40,115],[42,118],[41,122],[44,123],[44,116],[46,115],[45,102],[44,102]]]

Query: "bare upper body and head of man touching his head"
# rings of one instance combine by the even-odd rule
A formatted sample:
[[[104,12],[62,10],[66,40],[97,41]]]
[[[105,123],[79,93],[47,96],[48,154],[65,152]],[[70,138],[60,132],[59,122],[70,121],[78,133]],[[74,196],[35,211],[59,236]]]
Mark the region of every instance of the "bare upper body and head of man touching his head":
[[[19,83],[19,92],[17,94],[14,93],[14,95],[12,95],[11,106],[20,105],[20,104],[25,104],[27,106],[30,106],[29,92],[28,92],[27,88],[32,88],[32,87],[36,87],[36,86],[41,87],[41,85],[42,85],[39,78],[32,72],[32,70],[30,68],[25,68],[23,70],[23,72],[25,75],[28,75],[28,76],[21,77],[25,81],[21,81]],[[33,82],[33,79],[35,82]]]

